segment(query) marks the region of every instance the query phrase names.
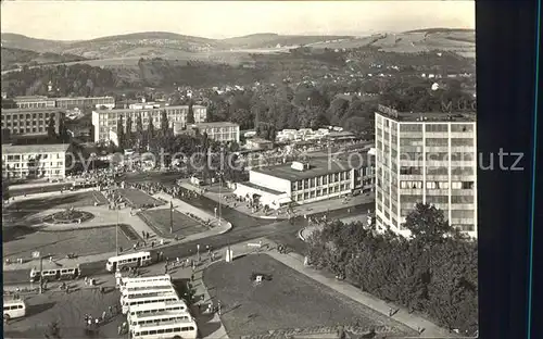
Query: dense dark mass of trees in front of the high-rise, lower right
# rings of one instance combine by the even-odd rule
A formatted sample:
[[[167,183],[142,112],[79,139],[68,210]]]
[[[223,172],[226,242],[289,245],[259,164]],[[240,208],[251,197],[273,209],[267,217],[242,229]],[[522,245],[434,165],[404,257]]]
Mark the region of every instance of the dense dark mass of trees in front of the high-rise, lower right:
[[[439,209],[417,203],[403,225],[412,237],[364,223],[326,223],[307,239],[307,258],[363,291],[473,336],[478,329],[477,242]]]

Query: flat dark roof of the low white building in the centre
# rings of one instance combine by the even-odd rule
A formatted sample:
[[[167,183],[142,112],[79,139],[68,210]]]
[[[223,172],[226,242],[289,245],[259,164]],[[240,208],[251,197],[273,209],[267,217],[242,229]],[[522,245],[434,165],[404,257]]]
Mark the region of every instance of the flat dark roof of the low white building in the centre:
[[[372,162],[371,158],[367,153],[356,153],[359,156],[345,158],[315,158],[308,160],[310,168],[305,171],[296,171],[291,167],[292,163],[286,163],[281,165],[253,168],[251,171],[256,173],[262,173],[270,176],[275,176],[285,180],[298,181],[307,178],[314,178],[317,176],[345,172],[351,168],[361,168],[370,164]]]

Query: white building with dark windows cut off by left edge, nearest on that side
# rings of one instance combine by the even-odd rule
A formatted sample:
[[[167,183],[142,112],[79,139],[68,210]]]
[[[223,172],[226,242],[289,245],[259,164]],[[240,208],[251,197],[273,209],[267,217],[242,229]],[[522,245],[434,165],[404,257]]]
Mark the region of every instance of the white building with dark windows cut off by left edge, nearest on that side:
[[[2,145],[2,178],[64,178],[68,143]]]

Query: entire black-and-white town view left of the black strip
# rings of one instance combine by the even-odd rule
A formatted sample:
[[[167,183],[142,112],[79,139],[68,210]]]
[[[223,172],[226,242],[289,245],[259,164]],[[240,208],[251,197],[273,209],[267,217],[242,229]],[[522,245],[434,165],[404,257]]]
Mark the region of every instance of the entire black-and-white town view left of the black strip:
[[[477,338],[475,26],[2,1],[3,337]]]

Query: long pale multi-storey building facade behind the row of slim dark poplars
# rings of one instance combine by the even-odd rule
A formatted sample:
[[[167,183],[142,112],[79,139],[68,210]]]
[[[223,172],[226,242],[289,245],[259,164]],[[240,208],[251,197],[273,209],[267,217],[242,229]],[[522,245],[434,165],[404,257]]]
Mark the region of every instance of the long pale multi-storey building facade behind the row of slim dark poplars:
[[[187,115],[189,113],[188,105],[178,106],[162,106],[162,108],[134,108],[123,110],[96,110],[92,111],[92,126],[94,142],[110,141],[110,131],[117,133],[117,122],[123,118],[123,126],[126,131],[126,122],[128,117],[131,120],[131,129],[136,131],[138,116],[141,116],[143,129],[149,127],[149,122],[153,122],[155,128],[160,128],[163,111],[166,111],[169,128],[174,126],[186,126]],[[203,123],[207,117],[207,108],[193,105],[195,123]]]

